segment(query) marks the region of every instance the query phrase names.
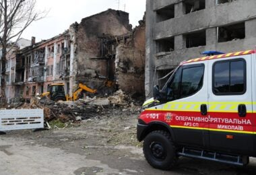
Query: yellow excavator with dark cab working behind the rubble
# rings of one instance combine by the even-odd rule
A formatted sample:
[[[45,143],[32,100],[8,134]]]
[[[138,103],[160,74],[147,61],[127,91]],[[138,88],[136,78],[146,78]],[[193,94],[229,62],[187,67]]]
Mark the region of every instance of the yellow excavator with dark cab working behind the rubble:
[[[77,100],[81,95],[82,91],[90,92],[95,94],[97,90],[93,90],[92,88],[88,88],[85,84],[79,83],[77,90],[73,92],[72,96],[68,94],[65,95],[64,84],[63,83],[55,83],[48,86],[47,92],[42,93],[40,96],[48,96],[51,100],[58,101],[72,101]]]

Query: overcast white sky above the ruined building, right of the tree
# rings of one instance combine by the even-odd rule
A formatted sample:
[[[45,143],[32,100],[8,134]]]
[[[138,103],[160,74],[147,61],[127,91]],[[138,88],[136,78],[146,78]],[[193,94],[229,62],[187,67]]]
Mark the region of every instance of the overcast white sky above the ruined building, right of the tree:
[[[120,1],[120,3],[119,3]],[[146,0],[37,0],[37,9],[49,9],[48,15],[29,26],[22,38],[36,36],[36,42],[63,33],[74,22],[107,9],[120,9],[129,13],[130,24],[138,25],[146,11]]]

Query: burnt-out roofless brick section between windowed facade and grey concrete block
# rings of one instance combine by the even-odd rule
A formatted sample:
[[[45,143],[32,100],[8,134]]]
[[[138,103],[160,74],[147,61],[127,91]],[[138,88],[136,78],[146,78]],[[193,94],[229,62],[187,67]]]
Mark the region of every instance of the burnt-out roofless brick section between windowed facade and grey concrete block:
[[[108,93],[104,87],[114,90],[115,85],[127,93],[143,93],[145,26],[132,30],[129,13],[108,9],[82,19],[80,24],[72,24],[69,33],[72,67],[69,93],[78,83],[85,83],[102,94]],[[120,55],[121,47],[131,50]],[[128,64],[123,67],[127,71],[122,76],[118,67],[125,61]]]

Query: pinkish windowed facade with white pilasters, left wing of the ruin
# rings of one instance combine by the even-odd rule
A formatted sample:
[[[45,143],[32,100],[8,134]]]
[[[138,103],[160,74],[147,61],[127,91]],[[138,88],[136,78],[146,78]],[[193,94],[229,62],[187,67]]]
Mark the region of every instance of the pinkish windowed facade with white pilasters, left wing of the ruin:
[[[49,40],[36,43],[32,37],[31,45],[16,55],[16,97],[31,98],[47,91],[51,83],[66,83],[69,72],[68,31]]]

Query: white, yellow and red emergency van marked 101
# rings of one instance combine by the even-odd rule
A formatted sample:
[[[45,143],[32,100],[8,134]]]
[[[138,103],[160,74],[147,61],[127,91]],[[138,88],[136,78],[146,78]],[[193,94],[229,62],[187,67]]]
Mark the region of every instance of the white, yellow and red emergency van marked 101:
[[[245,166],[256,157],[256,50],[184,61],[144,102],[137,139],[154,168],[179,156]]]

